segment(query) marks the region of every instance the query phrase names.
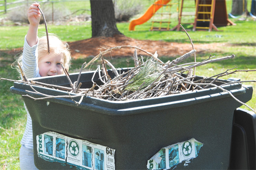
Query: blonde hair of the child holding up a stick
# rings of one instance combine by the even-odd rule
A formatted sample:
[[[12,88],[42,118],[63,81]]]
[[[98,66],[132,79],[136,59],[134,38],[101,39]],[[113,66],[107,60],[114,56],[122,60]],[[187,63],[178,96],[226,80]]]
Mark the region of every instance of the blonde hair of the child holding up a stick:
[[[71,65],[71,54],[69,45],[65,42],[62,42],[60,38],[58,38],[55,35],[49,35],[49,48],[50,48],[50,54],[53,56],[61,54],[61,56],[64,58],[63,66],[67,69],[67,71],[70,68]],[[46,57],[48,54],[48,45],[47,45],[47,37],[41,37],[38,41],[38,61],[41,60],[42,57]],[[16,62],[19,62],[21,65],[22,61],[22,54],[20,57],[18,57]],[[14,63],[17,65],[17,63]],[[17,65],[17,70],[20,72],[20,69]]]

